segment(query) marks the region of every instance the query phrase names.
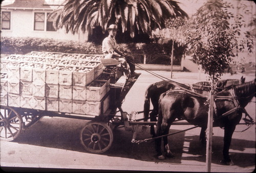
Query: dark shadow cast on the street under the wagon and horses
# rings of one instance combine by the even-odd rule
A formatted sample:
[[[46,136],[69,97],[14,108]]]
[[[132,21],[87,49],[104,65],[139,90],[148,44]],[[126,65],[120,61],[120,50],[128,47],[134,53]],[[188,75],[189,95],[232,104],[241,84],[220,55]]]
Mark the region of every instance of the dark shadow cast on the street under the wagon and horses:
[[[80,131],[87,122],[86,120],[67,118],[42,118],[35,125],[20,134],[13,142],[87,153],[80,144]],[[147,128],[145,132],[138,133],[136,139],[151,138],[149,129]],[[177,131],[171,129],[170,133]],[[125,131],[123,128],[116,129],[113,134],[114,141],[111,149],[102,155],[155,163],[179,164],[182,163],[182,160],[205,162],[205,146],[200,143],[198,135],[185,136],[183,132],[169,136],[170,150],[175,157],[158,160],[155,157],[155,143],[153,140],[140,144],[132,143],[132,132]],[[220,164],[223,137],[213,136],[212,140],[212,163]],[[187,150],[184,150],[184,142],[189,142]],[[242,153],[245,148],[254,149],[255,141],[232,139],[230,149],[232,151],[240,151],[236,153],[230,152],[230,157],[235,165],[240,167],[255,165],[255,153]]]

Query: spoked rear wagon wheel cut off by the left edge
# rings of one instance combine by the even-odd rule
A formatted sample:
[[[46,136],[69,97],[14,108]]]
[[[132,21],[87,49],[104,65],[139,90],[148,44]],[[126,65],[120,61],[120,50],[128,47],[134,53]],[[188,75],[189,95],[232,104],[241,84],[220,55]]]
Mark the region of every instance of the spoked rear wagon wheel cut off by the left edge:
[[[22,131],[22,117],[13,109],[1,106],[0,137],[1,140],[11,141],[17,138]]]

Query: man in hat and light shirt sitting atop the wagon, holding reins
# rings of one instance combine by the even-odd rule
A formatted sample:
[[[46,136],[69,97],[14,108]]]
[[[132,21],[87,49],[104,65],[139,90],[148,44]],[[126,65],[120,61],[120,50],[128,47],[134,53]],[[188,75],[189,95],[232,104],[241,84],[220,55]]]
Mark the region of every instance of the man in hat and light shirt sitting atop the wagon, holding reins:
[[[116,24],[111,24],[106,30],[109,32],[109,36],[102,41],[102,52],[105,58],[114,58],[118,60],[122,67],[126,68],[124,73],[127,77],[129,75],[131,75],[131,77],[140,75],[135,72],[134,57],[132,55],[124,54],[117,49],[115,39],[117,33]],[[129,72],[129,67],[127,66],[126,61],[130,66],[131,73]]]

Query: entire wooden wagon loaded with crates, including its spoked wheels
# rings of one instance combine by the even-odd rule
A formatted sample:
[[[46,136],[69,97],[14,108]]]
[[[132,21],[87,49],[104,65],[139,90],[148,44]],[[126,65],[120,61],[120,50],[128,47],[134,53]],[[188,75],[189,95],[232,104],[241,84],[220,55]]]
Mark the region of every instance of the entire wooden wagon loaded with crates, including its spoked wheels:
[[[84,148],[107,151],[112,129],[127,124],[122,101],[139,76],[122,76],[102,55],[31,52],[1,59],[1,139],[14,140],[43,116],[91,120],[80,133]],[[116,116],[119,108],[121,116]]]

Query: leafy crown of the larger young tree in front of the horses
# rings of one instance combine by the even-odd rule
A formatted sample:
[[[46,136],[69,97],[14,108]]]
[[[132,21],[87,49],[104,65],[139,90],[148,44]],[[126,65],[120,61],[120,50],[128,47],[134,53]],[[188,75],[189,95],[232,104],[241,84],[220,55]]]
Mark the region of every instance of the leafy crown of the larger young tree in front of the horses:
[[[222,0],[208,0],[189,23],[189,53],[194,62],[202,65],[211,80],[218,80],[224,70],[230,68],[232,58],[245,47],[252,52],[250,32],[241,32],[243,16],[238,14],[237,20],[234,20],[234,15],[228,11],[231,8]]]

